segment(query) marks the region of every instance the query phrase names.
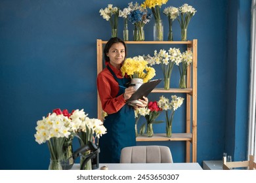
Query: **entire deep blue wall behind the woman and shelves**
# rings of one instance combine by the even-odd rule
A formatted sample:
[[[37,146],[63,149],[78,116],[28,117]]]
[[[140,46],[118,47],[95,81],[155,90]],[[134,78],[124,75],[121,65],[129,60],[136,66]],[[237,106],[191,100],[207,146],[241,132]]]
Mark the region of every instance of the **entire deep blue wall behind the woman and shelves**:
[[[33,135],[37,120],[53,108],[84,108],[96,118],[96,39],[108,40],[111,35],[109,22],[98,11],[110,3],[125,8],[129,2],[0,1],[0,169],[48,168],[47,145],[37,144]],[[224,151],[239,159],[246,156],[251,1],[233,2],[169,0],[163,6],[188,3],[198,10],[188,26],[188,39],[198,39],[201,165],[203,160],[221,159]],[[162,19],[167,40],[168,22],[164,15]],[[145,25],[146,41],[153,40],[153,24]],[[120,18],[119,37],[122,25]],[[129,29],[132,39],[133,25]],[[179,41],[178,22],[173,31]],[[130,56],[136,54],[130,49]],[[154,50],[139,47],[143,54],[150,54],[148,49]],[[174,132],[182,131],[182,125],[175,125]],[[154,129],[164,131],[163,125]],[[175,162],[184,161],[184,142],[146,144],[167,145]]]

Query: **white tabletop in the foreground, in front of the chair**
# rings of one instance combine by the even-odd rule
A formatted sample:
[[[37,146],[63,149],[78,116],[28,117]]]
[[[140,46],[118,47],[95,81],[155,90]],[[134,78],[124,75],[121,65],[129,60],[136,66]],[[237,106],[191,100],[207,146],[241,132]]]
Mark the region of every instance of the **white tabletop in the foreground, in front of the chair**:
[[[108,166],[108,170],[202,170],[198,163],[100,163]],[[79,170],[79,163],[75,163],[72,170]]]

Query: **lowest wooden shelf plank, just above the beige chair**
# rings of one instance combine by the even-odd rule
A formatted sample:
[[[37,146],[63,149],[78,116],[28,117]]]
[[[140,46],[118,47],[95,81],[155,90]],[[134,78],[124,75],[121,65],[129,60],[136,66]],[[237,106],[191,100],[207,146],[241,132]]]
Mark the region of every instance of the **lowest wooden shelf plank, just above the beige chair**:
[[[165,133],[156,133],[153,137],[147,137],[146,135],[138,135],[136,141],[192,141],[191,133],[173,133],[171,138],[166,137]]]

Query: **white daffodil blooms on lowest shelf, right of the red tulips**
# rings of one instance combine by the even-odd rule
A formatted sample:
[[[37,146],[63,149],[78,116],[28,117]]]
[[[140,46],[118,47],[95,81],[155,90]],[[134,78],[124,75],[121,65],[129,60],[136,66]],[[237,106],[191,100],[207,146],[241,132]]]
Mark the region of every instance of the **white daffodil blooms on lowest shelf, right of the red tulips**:
[[[171,102],[169,102],[169,99],[166,97],[163,97],[163,95],[160,97],[160,100],[158,101],[159,107],[161,107],[163,110],[177,110],[177,108],[181,107],[182,103],[184,101],[184,98],[177,97],[177,95],[171,95]]]

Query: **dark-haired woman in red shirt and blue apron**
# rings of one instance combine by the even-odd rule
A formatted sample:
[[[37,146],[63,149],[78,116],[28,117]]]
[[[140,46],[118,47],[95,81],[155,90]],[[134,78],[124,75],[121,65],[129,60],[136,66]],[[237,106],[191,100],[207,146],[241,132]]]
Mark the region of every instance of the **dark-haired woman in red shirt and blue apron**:
[[[125,57],[126,45],[121,39],[114,37],[106,43],[106,68],[97,76],[102,110],[108,114],[104,120],[107,133],[99,141],[100,163],[119,163],[121,149],[136,145],[134,107],[125,103],[135,89],[127,87],[131,79],[120,71]],[[136,107],[146,107],[148,99],[144,97],[140,102]]]

